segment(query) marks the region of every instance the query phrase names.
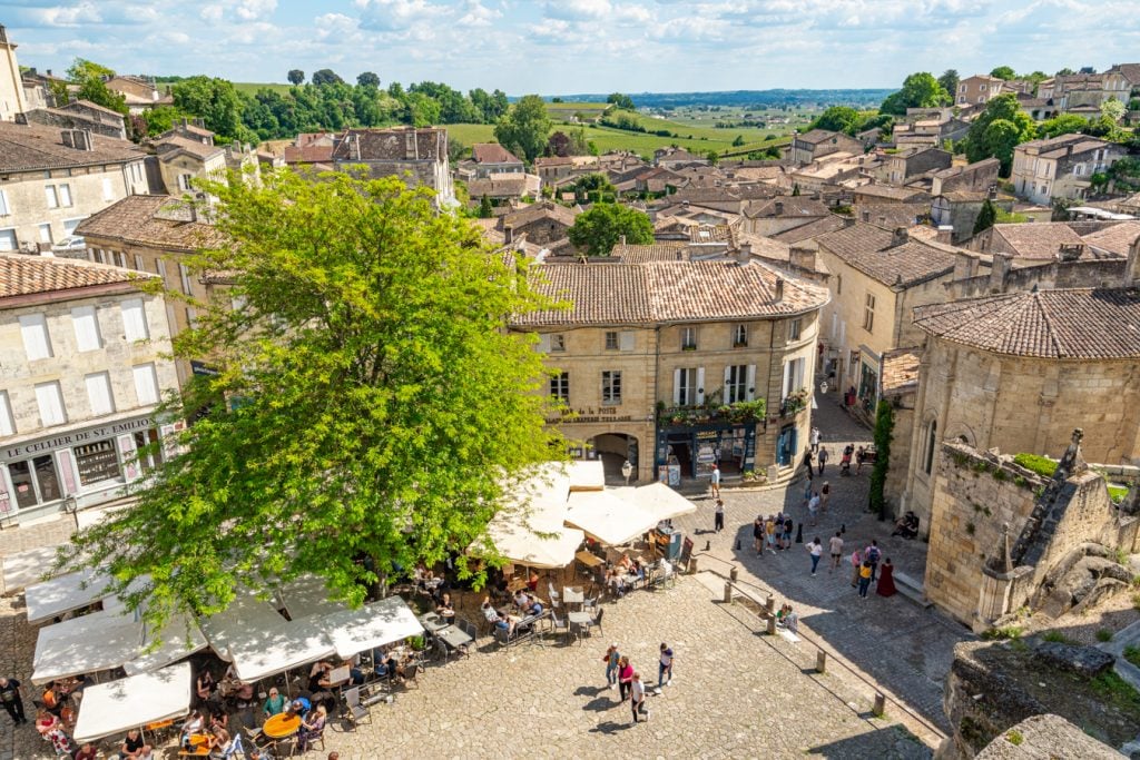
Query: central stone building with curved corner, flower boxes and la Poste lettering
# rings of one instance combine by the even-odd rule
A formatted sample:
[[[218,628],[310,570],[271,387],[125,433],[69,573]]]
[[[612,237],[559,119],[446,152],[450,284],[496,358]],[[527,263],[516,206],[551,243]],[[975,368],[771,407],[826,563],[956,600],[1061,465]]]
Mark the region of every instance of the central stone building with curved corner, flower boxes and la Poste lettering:
[[[741,261],[545,264],[538,288],[568,310],[527,314],[557,374],[552,419],[579,453],[629,459],[641,481],[790,477],[811,428],[826,291]],[[766,411],[758,409],[759,400]]]

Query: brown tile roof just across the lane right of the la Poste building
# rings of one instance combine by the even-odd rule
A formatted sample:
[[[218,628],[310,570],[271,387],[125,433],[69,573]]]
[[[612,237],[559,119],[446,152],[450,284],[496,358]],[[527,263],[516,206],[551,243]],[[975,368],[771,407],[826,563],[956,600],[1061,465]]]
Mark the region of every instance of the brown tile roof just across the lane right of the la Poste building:
[[[954,270],[954,248],[928,240],[907,238],[893,245],[894,232],[874,224],[856,223],[815,240],[846,262],[883,285],[907,287]]]

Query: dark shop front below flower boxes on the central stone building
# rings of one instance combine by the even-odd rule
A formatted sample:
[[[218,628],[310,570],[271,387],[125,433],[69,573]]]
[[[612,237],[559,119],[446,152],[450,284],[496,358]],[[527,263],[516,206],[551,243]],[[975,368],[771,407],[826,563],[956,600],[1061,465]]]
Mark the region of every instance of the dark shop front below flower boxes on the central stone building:
[[[756,469],[756,423],[710,423],[658,427],[657,479],[678,487],[686,480],[708,480],[712,466],[722,475]]]

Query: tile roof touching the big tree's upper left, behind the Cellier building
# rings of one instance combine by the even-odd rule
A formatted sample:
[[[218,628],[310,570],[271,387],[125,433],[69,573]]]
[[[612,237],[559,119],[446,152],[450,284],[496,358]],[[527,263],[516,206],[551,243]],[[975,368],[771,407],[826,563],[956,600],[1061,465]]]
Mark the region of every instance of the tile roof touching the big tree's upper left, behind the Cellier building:
[[[129,195],[84,219],[75,234],[178,252],[194,252],[226,240],[213,224],[190,221],[189,209],[169,195]]]

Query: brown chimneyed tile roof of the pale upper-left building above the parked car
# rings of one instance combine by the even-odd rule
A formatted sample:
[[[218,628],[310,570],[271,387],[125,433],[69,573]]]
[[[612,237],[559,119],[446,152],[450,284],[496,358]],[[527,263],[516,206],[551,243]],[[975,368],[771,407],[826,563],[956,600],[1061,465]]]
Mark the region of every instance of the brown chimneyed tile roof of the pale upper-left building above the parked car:
[[[0,121],[0,171],[119,164],[145,157],[138,146],[127,140],[92,134],[91,144],[93,150],[68,148],[59,129]]]

